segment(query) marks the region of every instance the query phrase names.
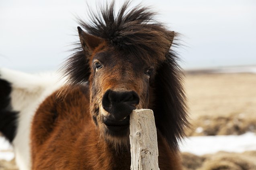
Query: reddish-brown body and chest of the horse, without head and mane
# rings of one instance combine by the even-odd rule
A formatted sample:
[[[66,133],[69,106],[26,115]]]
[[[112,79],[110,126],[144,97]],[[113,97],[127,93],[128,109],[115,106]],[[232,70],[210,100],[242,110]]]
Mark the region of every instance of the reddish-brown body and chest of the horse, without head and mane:
[[[39,107],[32,126],[33,170],[129,170],[129,148],[117,152],[102,138],[88,110],[88,86],[70,89],[63,101],[56,92]],[[70,115],[72,114],[72,115]],[[158,133],[159,167],[181,170],[180,158]]]

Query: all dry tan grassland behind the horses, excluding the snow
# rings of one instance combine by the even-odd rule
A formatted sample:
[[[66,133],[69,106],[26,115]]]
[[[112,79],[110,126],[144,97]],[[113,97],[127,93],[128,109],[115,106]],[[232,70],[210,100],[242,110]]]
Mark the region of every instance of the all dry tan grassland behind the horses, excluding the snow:
[[[256,132],[256,74],[186,74],[188,136]],[[197,128],[201,128],[201,132]],[[204,156],[182,153],[184,170],[256,170],[256,151]],[[0,161],[0,170],[16,170]]]

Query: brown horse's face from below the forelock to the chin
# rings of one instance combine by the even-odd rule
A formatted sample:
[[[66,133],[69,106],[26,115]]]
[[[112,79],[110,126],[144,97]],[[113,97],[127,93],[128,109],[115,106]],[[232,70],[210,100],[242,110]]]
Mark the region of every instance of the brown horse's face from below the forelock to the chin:
[[[148,107],[153,66],[131,54],[103,48],[90,59],[90,68],[94,121],[107,138],[129,139],[129,115]]]

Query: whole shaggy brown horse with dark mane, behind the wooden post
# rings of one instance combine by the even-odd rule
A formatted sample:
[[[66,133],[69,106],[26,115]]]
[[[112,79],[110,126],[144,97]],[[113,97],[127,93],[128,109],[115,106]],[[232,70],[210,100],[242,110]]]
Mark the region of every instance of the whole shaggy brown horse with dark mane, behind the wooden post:
[[[154,111],[159,167],[181,170],[185,95],[176,33],[154,20],[150,8],[115,14],[114,3],[80,20],[80,44],[67,60],[68,83],[49,95],[33,116],[33,170],[129,170],[129,114]],[[61,96],[61,97],[60,97]]]

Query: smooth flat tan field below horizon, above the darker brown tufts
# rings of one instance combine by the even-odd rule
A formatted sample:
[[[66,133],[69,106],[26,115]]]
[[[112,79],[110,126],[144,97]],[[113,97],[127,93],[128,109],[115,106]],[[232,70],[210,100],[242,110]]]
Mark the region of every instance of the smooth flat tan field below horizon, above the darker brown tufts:
[[[256,74],[186,74],[190,115],[256,113]]]

